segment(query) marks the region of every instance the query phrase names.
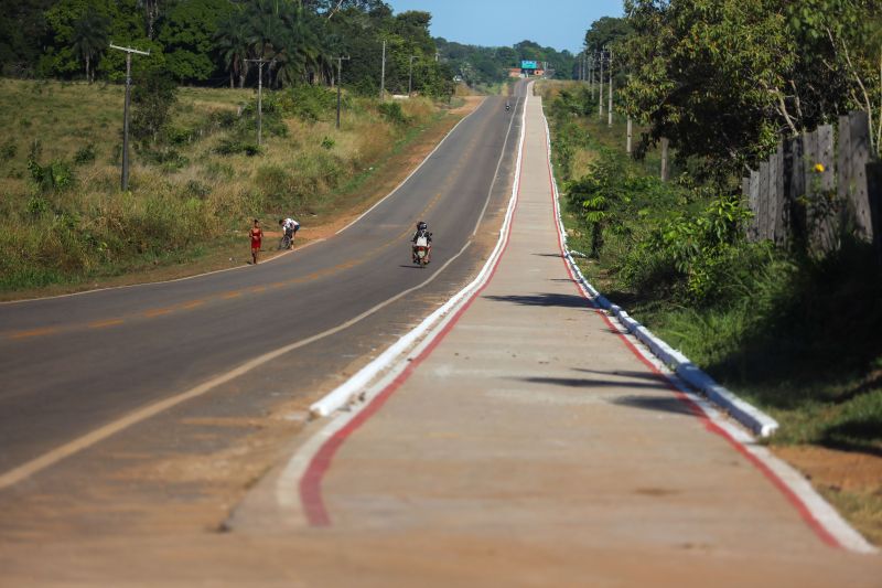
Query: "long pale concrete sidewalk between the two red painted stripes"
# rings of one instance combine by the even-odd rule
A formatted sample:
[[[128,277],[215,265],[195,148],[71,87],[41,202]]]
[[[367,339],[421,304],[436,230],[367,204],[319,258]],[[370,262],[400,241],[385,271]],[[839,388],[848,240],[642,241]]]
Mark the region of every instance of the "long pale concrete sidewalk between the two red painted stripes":
[[[539,98],[488,286],[322,483],[323,582],[875,586],[580,295]],[[301,537],[305,538],[305,537]],[[343,555],[345,554],[345,555]]]

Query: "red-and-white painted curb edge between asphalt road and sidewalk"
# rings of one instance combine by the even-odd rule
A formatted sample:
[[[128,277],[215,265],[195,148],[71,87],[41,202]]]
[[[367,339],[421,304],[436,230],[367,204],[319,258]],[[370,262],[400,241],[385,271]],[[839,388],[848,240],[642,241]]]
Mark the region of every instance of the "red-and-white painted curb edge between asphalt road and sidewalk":
[[[334,415],[334,418],[297,450],[276,481],[276,500],[283,515],[301,518],[297,522],[311,526],[330,525],[331,518],[322,499],[321,483],[337,449],[383,406],[407,381],[412,371],[441,343],[495,274],[508,245],[512,222],[517,209],[528,101],[529,88],[521,114],[515,181],[496,247],[471,284],[376,360],[310,407],[313,416]],[[292,489],[298,491],[293,492]]]

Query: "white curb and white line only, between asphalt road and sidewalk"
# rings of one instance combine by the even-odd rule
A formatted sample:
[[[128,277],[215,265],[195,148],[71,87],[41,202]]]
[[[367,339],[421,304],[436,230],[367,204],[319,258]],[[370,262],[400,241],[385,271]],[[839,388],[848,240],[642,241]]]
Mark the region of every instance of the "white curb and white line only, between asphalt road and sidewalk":
[[[348,405],[349,410],[337,411],[334,418],[331,418],[318,431],[310,436],[306,441],[301,445],[289,459],[282,469],[279,478],[276,480],[276,500],[279,507],[283,511],[283,515],[292,524],[305,524],[303,517],[302,505],[300,503],[300,493],[295,490],[303,478],[303,473],[309,468],[312,458],[322,448],[327,439],[331,439],[334,434],[346,426],[358,413],[361,413],[370,403],[370,398],[376,396],[379,392],[386,388],[408,365],[409,357],[419,356],[423,349],[434,341],[438,334],[444,329],[444,325],[455,317],[453,312],[454,307],[459,307],[467,300],[466,296],[481,288],[490,278],[490,274],[496,264],[497,258],[502,255],[505,243],[508,239],[508,232],[512,225],[515,206],[517,204],[517,193],[520,185],[520,167],[524,154],[524,138],[525,138],[525,122],[527,118],[527,103],[529,101],[529,88],[524,101],[524,111],[521,114],[520,139],[517,152],[517,163],[515,165],[515,181],[512,186],[512,196],[508,201],[508,209],[505,213],[503,226],[499,229],[499,238],[496,242],[496,247],[487,258],[478,276],[469,286],[454,295],[445,304],[435,310],[431,316],[424,319],[418,327],[405,335],[408,339],[408,344],[411,344],[418,339],[418,334],[426,336],[412,349],[405,357],[400,357],[404,351],[408,350],[408,344],[402,344],[401,341],[394,344],[386,350],[380,356],[363,367],[347,382],[332,391],[325,397],[316,402],[310,407],[313,415],[332,415],[335,410],[340,410]],[[405,339],[402,338],[402,340]],[[395,352],[392,352],[395,350]],[[398,360],[396,362],[396,360]],[[375,379],[383,371],[386,374],[379,379]],[[373,385],[366,386],[374,379]],[[357,384],[356,384],[357,383]],[[361,399],[362,403],[354,405],[354,399]],[[294,490],[292,490],[294,489]]]

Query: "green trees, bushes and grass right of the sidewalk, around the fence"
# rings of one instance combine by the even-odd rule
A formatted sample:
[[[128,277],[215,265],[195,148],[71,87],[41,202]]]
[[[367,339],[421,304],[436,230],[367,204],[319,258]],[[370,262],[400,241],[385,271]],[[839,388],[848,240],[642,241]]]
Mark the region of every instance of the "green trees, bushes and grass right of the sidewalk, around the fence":
[[[580,265],[611,300],[778,419],[770,443],[879,543],[879,255],[851,234],[825,255],[798,238],[749,243],[752,213],[740,182],[792,127],[811,130],[868,105],[878,125],[882,49],[864,43],[874,26],[882,30],[881,14],[867,2],[817,0],[800,4],[802,12],[786,3],[757,12],[754,3],[762,2],[723,2],[725,10],[708,12],[689,0],[666,8],[627,2],[627,26],[602,43],[630,55],[616,71],[612,127],[605,113],[599,117],[590,85],[541,86],[570,246],[584,254]],[[827,18],[831,8],[838,21]],[[766,17],[750,17],[760,13]],[[747,34],[760,30],[770,34]],[[590,30],[589,41],[601,32]],[[725,39],[775,46],[729,47]],[[821,61],[835,83],[813,82],[811,64]],[[745,68],[756,78],[743,79]],[[783,90],[777,99],[774,85],[786,79],[805,85],[802,101]],[[744,83],[768,88],[751,93]],[[703,89],[677,90],[692,86]],[[624,148],[625,114],[636,121],[633,156]],[[659,179],[663,137],[673,149],[667,182]],[[800,447],[811,459],[798,459]],[[853,470],[854,457],[865,472]]]

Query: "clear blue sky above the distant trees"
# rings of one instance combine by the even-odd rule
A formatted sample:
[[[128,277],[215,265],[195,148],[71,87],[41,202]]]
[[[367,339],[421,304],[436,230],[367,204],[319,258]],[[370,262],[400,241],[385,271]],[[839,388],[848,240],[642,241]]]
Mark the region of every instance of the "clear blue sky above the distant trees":
[[[622,17],[622,0],[386,0],[396,13],[432,13],[432,36],[469,45],[510,46],[529,39],[558,51],[581,51],[602,17]]]

